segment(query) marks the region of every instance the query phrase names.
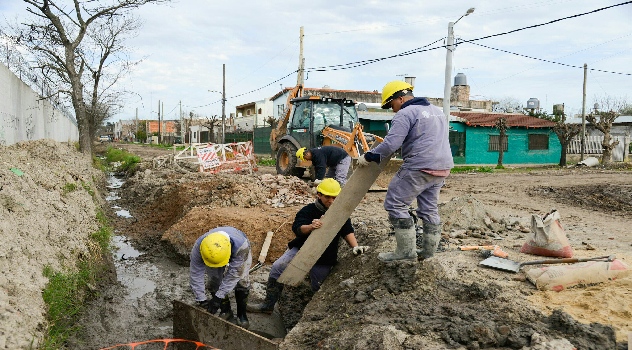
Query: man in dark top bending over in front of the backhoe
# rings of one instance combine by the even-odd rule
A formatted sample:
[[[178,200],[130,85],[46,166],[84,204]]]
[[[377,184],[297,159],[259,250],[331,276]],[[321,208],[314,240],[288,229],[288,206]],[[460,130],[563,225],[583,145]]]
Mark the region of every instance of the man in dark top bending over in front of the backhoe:
[[[296,157],[300,160],[309,160],[314,166],[314,184],[318,185],[325,177],[336,179],[340,186],[347,183],[347,173],[351,165],[351,157],[341,147],[321,146],[312,149],[300,148],[296,151]],[[325,171],[327,174],[325,174]]]

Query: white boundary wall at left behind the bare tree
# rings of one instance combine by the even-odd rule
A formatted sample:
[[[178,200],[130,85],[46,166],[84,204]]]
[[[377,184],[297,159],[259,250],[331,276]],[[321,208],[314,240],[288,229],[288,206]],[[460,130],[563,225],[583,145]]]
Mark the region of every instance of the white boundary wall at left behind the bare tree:
[[[79,141],[77,122],[0,64],[0,146],[39,139]]]

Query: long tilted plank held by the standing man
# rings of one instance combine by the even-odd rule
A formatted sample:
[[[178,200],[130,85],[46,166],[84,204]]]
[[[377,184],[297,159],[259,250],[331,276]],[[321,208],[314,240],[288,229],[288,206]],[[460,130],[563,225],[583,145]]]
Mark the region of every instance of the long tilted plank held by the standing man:
[[[309,235],[303,247],[301,247],[279,277],[278,281],[280,283],[290,286],[296,286],[301,283],[331,241],[336,237],[342,225],[351,216],[353,210],[360,204],[360,201],[389,160],[390,157],[383,159],[379,165],[371,162],[368,166],[357,167],[353,171],[347,184],[342,188],[342,191],[329,210],[327,210],[327,213],[321,218],[323,226]]]

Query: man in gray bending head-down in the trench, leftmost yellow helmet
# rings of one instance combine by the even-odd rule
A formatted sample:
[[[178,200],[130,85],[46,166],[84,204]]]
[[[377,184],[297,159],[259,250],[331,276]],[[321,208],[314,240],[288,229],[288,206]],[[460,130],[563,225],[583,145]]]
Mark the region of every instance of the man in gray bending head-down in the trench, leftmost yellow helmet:
[[[248,329],[246,304],[250,293],[249,270],[252,264],[250,242],[246,234],[234,227],[217,227],[199,237],[191,249],[189,283],[198,305],[211,314],[233,321],[228,294],[235,291],[237,303],[236,324]],[[206,289],[212,295],[206,298],[204,275],[208,276]]]

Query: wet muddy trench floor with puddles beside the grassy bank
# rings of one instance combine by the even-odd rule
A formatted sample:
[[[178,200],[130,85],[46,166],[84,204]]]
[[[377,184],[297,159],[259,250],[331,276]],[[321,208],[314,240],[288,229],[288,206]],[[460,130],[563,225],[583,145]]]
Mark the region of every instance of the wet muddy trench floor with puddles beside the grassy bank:
[[[119,203],[125,196],[125,179],[113,174],[107,176],[107,207],[114,227],[112,261],[116,270],[116,283],[101,286],[97,298],[87,305],[79,322],[81,331],[70,339],[70,349],[187,349],[188,343],[167,343],[173,338],[174,300],[193,305],[189,288],[188,261],[176,253],[168,243],[154,237],[136,239],[130,235],[130,224],[138,222],[125,204]],[[163,217],[164,218],[164,217]],[[149,228],[151,230],[151,228]],[[154,228],[158,229],[158,227]],[[265,295],[265,281],[270,266],[264,265],[252,272],[252,294]],[[301,307],[311,298],[301,288],[297,293]],[[292,292],[290,292],[292,293]],[[236,310],[234,295],[230,295],[233,311]],[[294,298],[292,298],[294,299]],[[278,303],[278,305],[281,304]],[[250,331],[279,342],[286,334],[286,324],[279,307],[272,315],[249,314]],[[296,301],[288,305],[296,306]],[[286,322],[291,327],[300,318],[288,311]],[[236,334],[238,336],[238,334]],[[206,344],[211,348],[213,344]],[[194,349],[195,347],[193,347]]]

